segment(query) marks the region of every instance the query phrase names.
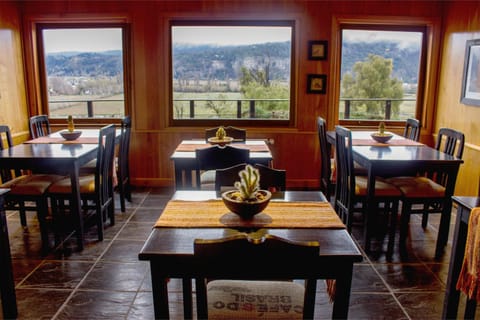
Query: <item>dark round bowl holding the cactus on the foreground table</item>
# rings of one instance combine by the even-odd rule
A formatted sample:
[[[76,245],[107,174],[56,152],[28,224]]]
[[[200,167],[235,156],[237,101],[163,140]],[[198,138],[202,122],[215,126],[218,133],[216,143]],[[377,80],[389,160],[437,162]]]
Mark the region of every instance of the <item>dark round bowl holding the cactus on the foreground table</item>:
[[[261,195],[261,199],[256,201],[243,201],[232,199],[232,193],[238,192],[237,190],[225,191],[222,193],[222,200],[225,206],[233,213],[240,216],[244,220],[250,220],[256,214],[265,210],[272,198],[272,193],[268,190],[259,190],[258,194]]]

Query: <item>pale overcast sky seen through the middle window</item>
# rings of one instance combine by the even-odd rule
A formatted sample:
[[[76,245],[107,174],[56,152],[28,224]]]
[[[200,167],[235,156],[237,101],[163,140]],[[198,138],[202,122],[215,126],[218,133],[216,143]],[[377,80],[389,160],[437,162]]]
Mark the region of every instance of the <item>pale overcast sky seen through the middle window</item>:
[[[244,45],[292,40],[291,27],[199,27],[172,28],[174,44]]]

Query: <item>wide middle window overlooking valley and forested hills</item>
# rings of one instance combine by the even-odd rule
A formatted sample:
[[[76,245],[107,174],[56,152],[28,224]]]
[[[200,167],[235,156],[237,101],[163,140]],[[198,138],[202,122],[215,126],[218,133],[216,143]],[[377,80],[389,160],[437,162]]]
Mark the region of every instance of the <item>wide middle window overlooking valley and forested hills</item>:
[[[173,124],[292,123],[292,21],[182,20],[170,30]]]

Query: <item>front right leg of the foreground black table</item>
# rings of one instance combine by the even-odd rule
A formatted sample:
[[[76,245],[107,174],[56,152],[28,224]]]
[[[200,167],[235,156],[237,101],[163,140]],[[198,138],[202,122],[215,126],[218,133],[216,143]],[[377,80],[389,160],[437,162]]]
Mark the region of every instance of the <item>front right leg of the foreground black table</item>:
[[[339,276],[336,278],[332,319],[348,319],[352,273],[353,263],[350,263],[342,268]]]

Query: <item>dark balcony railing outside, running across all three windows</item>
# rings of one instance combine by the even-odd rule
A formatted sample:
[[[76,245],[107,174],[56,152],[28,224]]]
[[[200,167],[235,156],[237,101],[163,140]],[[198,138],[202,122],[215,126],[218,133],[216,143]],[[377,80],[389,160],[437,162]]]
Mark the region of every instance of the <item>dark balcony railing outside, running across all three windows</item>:
[[[394,101],[402,102],[399,107],[400,119],[406,119],[415,115],[416,99],[413,98],[340,98],[340,118],[391,120],[393,115],[392,103]],[[215,104],[215,102],[217,102],[217,104]],[[381,112],[377,112],[374,115],[369,115],[366,111],[354,112],[356,107],[358,107],[357,109],[362,109],[361,105],[367,102],[377,102],[377,109]],[[176,119],[288,119],[289,117],[288,99],[174,99],[173,104]],[[220,105],[223,108],[221,113],[219,109]],[[275,105],[277,105],[277,107],[275,107]],[[54,118],[66,117],[69,114],[87,118],[122,117],[124,115],[123,99],[50,101],[49,106],[50,116]],[[215,108],[217,108],[217,110],[215,110]],[[261,112],[259,112],[259,109]],[[217,114],[215,112],[217,112]]]

